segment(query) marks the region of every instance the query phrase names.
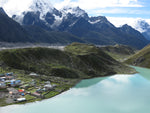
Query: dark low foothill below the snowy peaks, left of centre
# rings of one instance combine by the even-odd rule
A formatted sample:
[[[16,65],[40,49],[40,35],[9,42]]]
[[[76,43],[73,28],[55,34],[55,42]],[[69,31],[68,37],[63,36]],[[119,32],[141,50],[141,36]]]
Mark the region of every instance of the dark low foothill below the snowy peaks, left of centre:
[[[50,43],[50,44],[61,44],[66,45],[72,42],[81,42],[83,40],[78,37],[67,33],[59,31],[47,31],[38,26],[23,26],[33,40],[37,43]]]

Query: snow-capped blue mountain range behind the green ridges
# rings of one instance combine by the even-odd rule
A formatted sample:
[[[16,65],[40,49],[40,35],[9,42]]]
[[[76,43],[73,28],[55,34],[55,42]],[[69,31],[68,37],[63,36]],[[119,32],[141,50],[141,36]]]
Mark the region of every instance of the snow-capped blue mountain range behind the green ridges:
[[[8,13],[7,11],[6,9],[6,13]],[[5,11],[2,10],[1,12],[4,13]],[[22,29],[23,33],[25,33],[22,34],[22,37],[27,36],[26,40],[28,42],[51,44],[82,42],[96,45],[124,44],[138,49],[143,48],[150,42],[144,37],[146,35],[143,36],[139,31],[128,25],[117,28],[106,17],[89,17],[79,7],[65,6],[61,10],[57,10],[48,0],[31,0],[26,10],[20,12],[20,14],[15,13],[17,11],[12,12],[14,13],[11,13],[11,15],[8,13],[8,15],[12,16],[11,18],[20,24],[18,25],[21,27],[19,29]],[[1,15],[6,18],[6,15]],[[9,17],[7,16],[7,18]],[[9,18],[11,23],[16,23],[12,19]],[[1,23],[4,23],[3,20]],[[8,28],[11,30],[13,26]],[[5,31],[9,30],[6,29]],[[18,34],[19,32],[13,33]],[[9,36],[12,37],[13,35]],[[1,37],[3,38],[3,36]],[[15,37],[19,38],[20,36],[16,35]],[[24,41],[21,38],[20,40]],[[16,39],[12,40],[16,41]]]

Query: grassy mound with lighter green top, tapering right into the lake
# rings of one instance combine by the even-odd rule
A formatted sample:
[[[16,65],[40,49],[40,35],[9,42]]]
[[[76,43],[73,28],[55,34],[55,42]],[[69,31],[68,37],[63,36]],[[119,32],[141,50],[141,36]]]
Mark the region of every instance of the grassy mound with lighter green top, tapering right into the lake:
[[[97,76],[110,75],[110,73],[130,73],[130,71],[133,71],[93,45],[72,43],[65,48],[65,51],[80,58],[88,66],[85,71],[94,72]]]

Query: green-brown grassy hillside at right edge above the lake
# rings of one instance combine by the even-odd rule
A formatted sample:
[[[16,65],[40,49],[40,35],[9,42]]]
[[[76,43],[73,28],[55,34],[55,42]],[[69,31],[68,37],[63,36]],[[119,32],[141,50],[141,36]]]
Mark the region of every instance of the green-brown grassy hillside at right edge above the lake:
[[[150,45],[130,57],[125,63],[150,68]]]

